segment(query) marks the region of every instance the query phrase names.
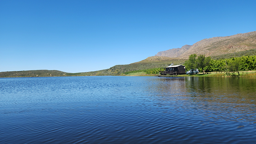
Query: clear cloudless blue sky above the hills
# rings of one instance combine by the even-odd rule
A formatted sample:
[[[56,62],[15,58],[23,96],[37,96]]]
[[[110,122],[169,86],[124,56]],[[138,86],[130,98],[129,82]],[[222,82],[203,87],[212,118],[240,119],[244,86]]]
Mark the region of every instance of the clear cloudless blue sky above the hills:
[[[1,0],[0,72],[88,72],[256,31],[256,0]]]

